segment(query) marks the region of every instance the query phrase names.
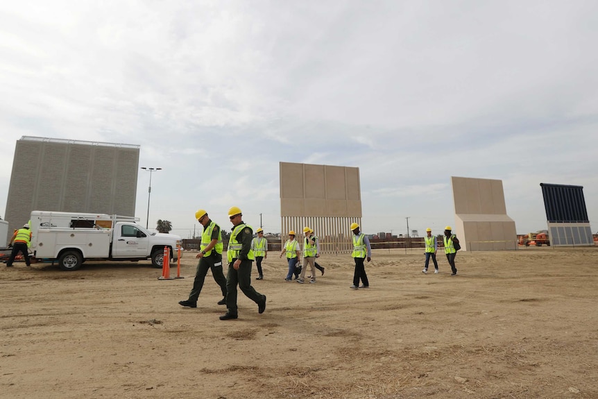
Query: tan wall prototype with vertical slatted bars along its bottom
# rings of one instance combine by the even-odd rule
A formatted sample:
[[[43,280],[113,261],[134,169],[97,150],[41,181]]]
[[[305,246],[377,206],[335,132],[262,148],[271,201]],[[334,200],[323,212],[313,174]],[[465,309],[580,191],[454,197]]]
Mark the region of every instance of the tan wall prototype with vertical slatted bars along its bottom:
[[[303,244],[309,226],[323,253],[352,251],[350,225],[361,226],[359,168],[280,162],[280,214],[283,238],[294,230]]]

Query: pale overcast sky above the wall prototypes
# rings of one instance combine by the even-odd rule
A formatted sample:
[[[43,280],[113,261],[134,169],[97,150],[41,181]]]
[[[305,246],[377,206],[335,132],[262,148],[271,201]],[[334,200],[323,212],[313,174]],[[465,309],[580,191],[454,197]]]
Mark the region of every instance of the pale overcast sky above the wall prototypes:
[[[22,136],[139,144],[150,226],[280,232],[279,162],[359,167],[366,233],[454,223],[450,176],[598,229],[597,1],[3,1],[0,210]],[[139,171],[145,226],[150,173]],[[26,182],[21,182],[26,184]],[[1,214],[3,217],[4,214]],[[297,226],[300,228],[302,226]]]

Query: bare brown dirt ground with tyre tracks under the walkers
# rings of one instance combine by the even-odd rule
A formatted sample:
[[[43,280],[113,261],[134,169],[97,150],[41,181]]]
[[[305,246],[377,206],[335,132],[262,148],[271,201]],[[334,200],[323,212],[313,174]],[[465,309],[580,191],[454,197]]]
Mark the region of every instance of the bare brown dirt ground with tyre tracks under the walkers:
[[[270,255],[266,312],[239,292],[232,321],[210,273],[178,305],[191,252],[177,280],[1,264],[0,397],[598,398],[598,248],[459,252],[454,277],[443,254],[424,275],[421,250],[377,250],[357,291],[349,255],[322,257],[314,285]]]

